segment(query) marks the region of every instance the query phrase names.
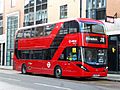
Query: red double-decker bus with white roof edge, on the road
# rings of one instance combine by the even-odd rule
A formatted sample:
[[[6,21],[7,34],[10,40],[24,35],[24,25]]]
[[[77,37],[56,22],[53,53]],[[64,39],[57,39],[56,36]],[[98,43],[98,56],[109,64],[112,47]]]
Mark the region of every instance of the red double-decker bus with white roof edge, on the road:
[[[108,37],[101,21],[76,18],[20,28],[14,69],[61,76],[107,76]]]

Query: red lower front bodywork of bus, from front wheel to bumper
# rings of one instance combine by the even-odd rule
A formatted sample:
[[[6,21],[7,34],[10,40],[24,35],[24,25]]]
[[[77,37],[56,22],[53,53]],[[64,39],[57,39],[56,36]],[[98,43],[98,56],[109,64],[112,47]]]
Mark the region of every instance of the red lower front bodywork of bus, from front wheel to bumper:
[[[95,75],[101,77],[107,76],[107,70],[104,67],[93,68],[89,66],[86,67],[89,71],[85,71],[81,67],[78,67],[77,64],[82,65],[82,62],[74,62],[74,61],[58,62],[58,65],[62,67],[62,76],[70,76],[70,77],[93,77]]]

